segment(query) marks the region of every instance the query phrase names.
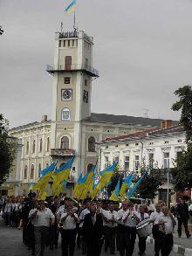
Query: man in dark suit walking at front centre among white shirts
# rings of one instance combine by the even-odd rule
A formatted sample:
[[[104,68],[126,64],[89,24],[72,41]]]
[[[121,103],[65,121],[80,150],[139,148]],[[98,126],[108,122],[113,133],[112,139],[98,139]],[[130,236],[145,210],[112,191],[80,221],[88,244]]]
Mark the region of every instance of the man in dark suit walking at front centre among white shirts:
[[[103,219],[97,212],[96,204],[91,204],[90,213],[86,214],[83,234],[86,239],[87,256],[99,256],[103,244]]]

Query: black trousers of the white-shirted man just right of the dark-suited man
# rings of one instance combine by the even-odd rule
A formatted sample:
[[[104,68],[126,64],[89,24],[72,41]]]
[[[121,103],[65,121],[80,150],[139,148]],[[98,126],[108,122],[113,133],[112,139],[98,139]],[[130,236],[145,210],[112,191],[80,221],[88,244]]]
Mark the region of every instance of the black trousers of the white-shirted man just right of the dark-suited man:
[[[104,226],[104,238],[105,238],[105,250],[109,247],[110,252],[114,253],[115,251],[115,237],[116,237],[116,228]]]

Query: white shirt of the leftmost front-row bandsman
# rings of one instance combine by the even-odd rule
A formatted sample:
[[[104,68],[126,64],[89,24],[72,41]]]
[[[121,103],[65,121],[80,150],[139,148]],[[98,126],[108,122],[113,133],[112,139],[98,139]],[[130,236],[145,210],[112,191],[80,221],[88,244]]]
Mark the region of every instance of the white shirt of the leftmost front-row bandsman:
[[[29,218],[31,215],[37,211],[37,209],[32,209],[29,213]],[[50,226],[50,220],[54,219],[54,214],[49,208],[45,208],[44,211],[38,211],[37,215],[31,219],[31,223],[34,226]]]

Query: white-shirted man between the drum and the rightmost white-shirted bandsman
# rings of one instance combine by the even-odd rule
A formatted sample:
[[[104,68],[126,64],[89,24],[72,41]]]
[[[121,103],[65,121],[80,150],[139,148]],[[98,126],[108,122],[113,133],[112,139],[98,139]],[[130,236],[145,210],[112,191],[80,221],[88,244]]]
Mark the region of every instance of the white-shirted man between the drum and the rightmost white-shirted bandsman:
[[[162,215],[161,204],[156,204],[155,209],[156,211],[152,212],[150,215],[150,221],[153,223],[152,233],[154,237],[154,256],[159,256],[161,249],[161,232],[159,231],[159,226],[155,225],[154,222]]]

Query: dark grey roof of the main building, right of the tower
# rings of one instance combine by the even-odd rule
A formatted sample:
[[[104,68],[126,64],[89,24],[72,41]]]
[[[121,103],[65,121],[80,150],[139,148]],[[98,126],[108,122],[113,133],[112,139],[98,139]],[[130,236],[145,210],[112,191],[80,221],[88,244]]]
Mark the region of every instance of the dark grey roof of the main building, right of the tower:
[[[91,116],[86,117],[83,121],[86,122],[102,122],[124,125],[138,125],[146,127],[161,127],[162,119],[144,118],[130,115],[117,115],[117,114],[97,114],[92,113]],[[177,124],[178,121],[173,121],[173,124]]]

